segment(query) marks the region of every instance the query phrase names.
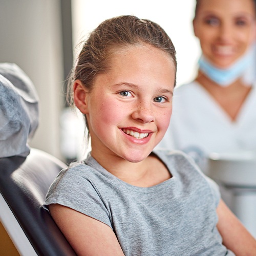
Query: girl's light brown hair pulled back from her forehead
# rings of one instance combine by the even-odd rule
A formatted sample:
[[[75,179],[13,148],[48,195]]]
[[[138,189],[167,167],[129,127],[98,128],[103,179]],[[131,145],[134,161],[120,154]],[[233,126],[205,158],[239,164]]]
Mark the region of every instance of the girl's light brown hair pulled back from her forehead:
[[[68,84],[67,100],[73,104],[73,82],[79,79],[90,90],[94,78],[109,69],[111,54],[125,46],[151,45],[166,52],[177,67],[172,40],[156,23],[136,16],[118,16],[102,22],[84,42]],[[176,80],[176,79],[175,79]]]

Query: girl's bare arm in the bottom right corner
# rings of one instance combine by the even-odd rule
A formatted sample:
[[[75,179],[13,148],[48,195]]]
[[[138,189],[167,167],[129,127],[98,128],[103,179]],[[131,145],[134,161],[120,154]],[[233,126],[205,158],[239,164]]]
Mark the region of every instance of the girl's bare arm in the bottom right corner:
[[[217,228],[223,244],[237,256],[256,255],[256,240],[221,200],[217,207],[219,222]]]

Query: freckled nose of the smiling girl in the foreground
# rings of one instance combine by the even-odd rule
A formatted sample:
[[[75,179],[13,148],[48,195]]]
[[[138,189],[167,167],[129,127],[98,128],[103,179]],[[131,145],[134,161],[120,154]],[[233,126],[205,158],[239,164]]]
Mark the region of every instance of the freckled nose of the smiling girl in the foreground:
[[[132,113],[132,118],[136,119],[142,123],[149,123],[155,121],[155,113],[150,105],[139,104],[136,106]]]

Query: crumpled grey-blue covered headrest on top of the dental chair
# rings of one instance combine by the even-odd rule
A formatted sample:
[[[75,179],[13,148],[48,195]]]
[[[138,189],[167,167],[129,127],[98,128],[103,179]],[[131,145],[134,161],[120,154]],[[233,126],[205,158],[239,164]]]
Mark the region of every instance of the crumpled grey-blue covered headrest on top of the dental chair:
[[[0,63],[0,95],[0,157],[26,157],[39,121],[34,84],[14,63]]]

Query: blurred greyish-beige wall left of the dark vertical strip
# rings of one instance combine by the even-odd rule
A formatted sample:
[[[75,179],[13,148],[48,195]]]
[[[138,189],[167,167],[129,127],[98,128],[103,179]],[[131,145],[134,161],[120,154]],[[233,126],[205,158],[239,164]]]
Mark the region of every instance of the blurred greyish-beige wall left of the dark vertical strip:
[[[34,82],[40,123],[31,146],[57,157],[62,108],[60,0],[1,0],[0,62],[15,62]]]

